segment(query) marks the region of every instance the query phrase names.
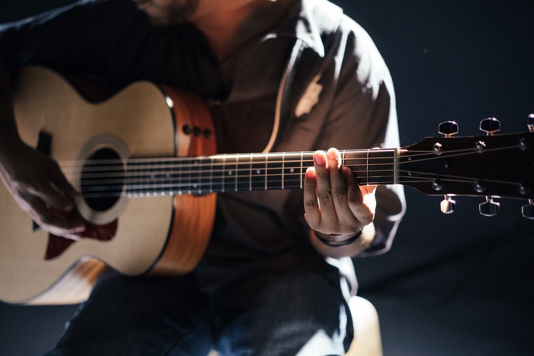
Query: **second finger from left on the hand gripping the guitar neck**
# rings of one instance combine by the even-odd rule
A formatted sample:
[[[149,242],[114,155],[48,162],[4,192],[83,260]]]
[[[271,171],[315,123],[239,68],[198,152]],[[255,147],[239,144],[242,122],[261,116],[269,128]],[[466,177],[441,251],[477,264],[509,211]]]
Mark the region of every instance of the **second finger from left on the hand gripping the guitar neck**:
[[[313,153],[313,167],[317,176],[317,198],[319,199],[320,224],[328,226],[337,224],[334,203],[332,201],[332,189],[330,187],[330,174],[328,173],[328,161],[323,151]]]

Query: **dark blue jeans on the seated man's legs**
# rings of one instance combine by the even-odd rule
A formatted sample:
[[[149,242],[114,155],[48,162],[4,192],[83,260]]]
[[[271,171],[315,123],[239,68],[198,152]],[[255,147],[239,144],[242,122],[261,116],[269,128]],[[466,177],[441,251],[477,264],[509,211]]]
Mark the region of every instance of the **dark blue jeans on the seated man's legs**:
[[[231,289],[234,301],[201,293],[191,276],[107,272],[45,355],[206,356],[215,349],[325,356],[343,355],[350,343],[340,286],[320,274],[292,270],[266,278],[255,291]]]

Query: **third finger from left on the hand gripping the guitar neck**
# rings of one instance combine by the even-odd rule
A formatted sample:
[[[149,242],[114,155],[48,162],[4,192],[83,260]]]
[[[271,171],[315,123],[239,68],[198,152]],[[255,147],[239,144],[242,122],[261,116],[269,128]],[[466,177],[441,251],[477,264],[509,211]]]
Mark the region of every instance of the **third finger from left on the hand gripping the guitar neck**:
[[[358,230],[358,221],[352,214],[347,201],[347,182],[341,168],[340,152],[331,148],[327,153],[328,171],[330,172],[330,185],[332,187],[332,200],[334,201],[337,220],[340,223],[340,233],[352,233]]]

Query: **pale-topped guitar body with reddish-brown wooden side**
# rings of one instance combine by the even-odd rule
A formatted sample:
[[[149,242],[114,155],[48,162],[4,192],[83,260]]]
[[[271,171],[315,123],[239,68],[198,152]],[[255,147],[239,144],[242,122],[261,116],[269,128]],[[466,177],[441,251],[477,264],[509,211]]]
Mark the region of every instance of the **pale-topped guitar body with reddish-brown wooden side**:
[[[29,67],[15,92],[15,118],[23,141],[37,147],[46,135],[51,157],[72,167],[101,149],[116,151],[121,159],[211,155],[216,150],[215,135],[182,130],[189,125],[214,132],[200,99],[148,82],[132,84],[95,104],[56,72]],[[62,170],[80,189],[80,169],[72,167]],[[102,225],[114,226],[113,231],[107,239],[88,236],[75,241],[50,257],[54,237],[35,230],[29,215],[0,184],[0,300],[84,301],[106,264],[131,276],[188,273],[208,244],[215,203],[215,193],[148,199],[122,195],[95,210],[80,199],[76,206],[95,231]]]

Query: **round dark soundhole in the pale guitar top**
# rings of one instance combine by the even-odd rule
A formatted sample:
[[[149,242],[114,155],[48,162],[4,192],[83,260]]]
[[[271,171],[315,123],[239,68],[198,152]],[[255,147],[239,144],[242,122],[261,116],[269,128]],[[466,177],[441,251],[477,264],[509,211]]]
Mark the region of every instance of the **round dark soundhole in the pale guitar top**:
[[[115,205],[124,188],[124,173],[121,158],[112,149],[99,149],[89,156],[81,175],[81,190],[87,205],[97,212]]]

